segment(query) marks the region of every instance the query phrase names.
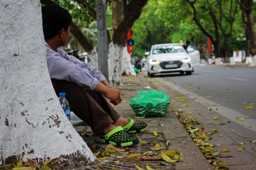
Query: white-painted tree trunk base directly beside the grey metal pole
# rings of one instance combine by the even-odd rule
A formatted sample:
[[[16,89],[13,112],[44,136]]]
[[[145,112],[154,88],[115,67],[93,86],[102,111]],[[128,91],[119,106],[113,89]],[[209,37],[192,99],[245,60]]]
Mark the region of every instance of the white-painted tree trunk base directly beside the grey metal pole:
[[[114,45],[113,42],[111,42],[108,48],[108,79],[111,86],[117,86],[121,83],[123,47],[120,45]]]

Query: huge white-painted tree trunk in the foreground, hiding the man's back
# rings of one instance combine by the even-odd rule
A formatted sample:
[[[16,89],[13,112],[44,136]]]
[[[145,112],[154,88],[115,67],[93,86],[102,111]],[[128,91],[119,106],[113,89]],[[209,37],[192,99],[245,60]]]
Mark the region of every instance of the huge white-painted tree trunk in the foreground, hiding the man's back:
[[[19,158],[96,162],[53,90],[40,0],[1,0],[0,16],[0,165]]]

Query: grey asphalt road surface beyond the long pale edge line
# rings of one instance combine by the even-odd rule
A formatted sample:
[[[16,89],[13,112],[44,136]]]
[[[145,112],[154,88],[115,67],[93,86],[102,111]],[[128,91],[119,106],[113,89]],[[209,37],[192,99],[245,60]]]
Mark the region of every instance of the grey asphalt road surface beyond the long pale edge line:
[[[157,78],[184,95],[190,93],[197,102],[216,104],[216,111],[229,119],[245,117],[245,121],[238,123],[252,126],[251,130],[256,132],[256,69],[196,66],[192,75]],[[245,109],[247,106],[253,109]]]

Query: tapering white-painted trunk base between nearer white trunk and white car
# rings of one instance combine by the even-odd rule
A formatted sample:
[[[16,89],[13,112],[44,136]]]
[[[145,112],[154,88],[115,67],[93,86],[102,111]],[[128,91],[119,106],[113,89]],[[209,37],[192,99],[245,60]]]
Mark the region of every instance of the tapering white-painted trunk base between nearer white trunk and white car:
[[[133,69],[131,64],[131,56],[127,52],[127,46],[123,47],[123,56],[122,56],[122,74],[136,76],[136,72]]]

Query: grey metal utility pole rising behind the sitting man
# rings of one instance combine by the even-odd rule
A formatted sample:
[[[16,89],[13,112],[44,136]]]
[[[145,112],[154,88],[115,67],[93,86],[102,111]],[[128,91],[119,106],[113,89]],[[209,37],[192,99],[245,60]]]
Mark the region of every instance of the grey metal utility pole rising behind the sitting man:
[[[96,0],[98,69],[108,80],[106,0]]]

